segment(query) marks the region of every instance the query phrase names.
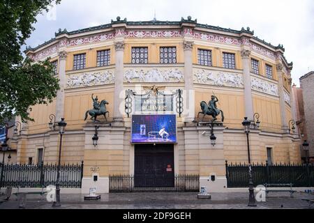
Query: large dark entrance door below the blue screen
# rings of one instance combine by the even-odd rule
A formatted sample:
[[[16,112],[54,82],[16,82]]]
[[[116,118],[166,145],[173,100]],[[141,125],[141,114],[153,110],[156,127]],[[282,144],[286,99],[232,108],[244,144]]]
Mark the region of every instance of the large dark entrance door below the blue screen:
[[[135,145],[135,187],[174,187],[173,144]]]

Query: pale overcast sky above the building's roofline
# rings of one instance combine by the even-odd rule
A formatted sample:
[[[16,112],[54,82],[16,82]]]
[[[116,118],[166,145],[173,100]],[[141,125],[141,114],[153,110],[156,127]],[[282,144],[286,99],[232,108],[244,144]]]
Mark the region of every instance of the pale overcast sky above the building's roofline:
[[[36,47],[54,37],[59,28],[73,31],[110,23],[119,15],[128,21],[179,21],[190,15],[200,24],[240,30],[249,26],[255,36],[285,47],[293,62],[292,82],[314,70],[313,0],[61,0],[50,13],[38,15],[27,45]]]

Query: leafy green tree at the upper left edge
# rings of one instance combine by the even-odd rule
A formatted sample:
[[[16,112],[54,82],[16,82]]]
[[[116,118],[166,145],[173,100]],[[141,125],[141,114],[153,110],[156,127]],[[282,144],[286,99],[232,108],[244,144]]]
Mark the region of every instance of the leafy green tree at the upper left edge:
[[[52,102],[59,90],[49,59],[33,63],[21,47],[34,30],[36,16],[61,0],[2,0],[0,2],[0,123],[21,116],[33,121],[32,105]]]

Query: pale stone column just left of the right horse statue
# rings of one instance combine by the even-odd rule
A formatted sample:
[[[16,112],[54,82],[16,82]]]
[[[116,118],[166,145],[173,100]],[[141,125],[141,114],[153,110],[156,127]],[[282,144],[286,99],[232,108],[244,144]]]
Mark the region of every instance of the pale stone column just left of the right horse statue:
[[[193,66],[192,66],[192,49],[193,41],[184,40],[184,87],[186,90],[186,105],[187,109],[185,122],[192,122],[195,118],[195,94],[193,87]]]

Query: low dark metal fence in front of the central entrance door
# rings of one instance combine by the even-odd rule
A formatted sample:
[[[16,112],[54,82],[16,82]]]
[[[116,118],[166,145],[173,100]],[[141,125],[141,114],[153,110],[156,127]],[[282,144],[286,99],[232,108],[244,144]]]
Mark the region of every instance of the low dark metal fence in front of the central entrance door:
[[[178,174],[174,176],[174,187],[135,187],[134,176],[109,176],[109,192],[199,192],[200,176]]]

